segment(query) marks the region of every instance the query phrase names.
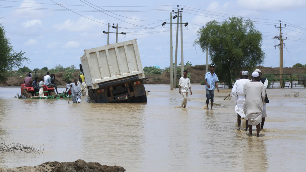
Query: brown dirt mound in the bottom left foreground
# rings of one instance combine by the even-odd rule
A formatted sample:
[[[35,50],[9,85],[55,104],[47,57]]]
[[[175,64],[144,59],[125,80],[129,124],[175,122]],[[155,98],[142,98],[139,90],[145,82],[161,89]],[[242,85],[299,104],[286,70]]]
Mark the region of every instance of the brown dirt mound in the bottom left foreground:
[[[59,163],[46,162],[35,167],[16,167],[16,168],[0,168],[0,171],[6,172],[124,172],[125,169],[120,166],[107,166],[99,163],[86,163],[84,160],[76,160],[75,162]]]

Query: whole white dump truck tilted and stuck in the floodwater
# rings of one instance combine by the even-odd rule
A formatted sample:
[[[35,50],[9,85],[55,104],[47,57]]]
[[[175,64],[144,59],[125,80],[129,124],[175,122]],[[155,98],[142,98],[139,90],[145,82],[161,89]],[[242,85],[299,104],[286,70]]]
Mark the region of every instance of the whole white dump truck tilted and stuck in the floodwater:
[[[136,39],[84,50],[80,69],[97,103],[147,102]]]

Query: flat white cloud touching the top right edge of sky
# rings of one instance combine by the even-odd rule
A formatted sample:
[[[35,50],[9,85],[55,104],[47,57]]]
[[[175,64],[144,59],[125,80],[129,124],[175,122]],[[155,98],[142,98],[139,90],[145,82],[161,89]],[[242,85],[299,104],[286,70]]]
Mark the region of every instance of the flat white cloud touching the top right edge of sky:
[[[250,10],[256,11],[280,11],[288,9],[302,8],[306,6],[304,0],[237,0],[237,5]]]

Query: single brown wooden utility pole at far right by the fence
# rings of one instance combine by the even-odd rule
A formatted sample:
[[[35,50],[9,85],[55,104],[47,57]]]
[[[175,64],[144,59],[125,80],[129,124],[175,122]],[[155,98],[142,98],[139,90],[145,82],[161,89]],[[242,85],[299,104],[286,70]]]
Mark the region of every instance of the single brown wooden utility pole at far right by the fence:
[[[279,47],[279,85],[282,87],[282,88],[285,88],[285,84],[284,84],[284,81],[283,81],[283,55],[284,55],[284,39],[283,39],[283,35],[282,35],[282,28],[283,27],[286,27],[286,24],[285,26],[282,27],[282,23],[281,21],[279,20],[279,27],[276,27],[276,25],[274,25],[275,28],[279,28],[279,36],[276,36],[274,37],[279,39],[279,44],[278,45],[275,45],[274,47],[278,46]],[[287,39],[287,38],[286,38]]]

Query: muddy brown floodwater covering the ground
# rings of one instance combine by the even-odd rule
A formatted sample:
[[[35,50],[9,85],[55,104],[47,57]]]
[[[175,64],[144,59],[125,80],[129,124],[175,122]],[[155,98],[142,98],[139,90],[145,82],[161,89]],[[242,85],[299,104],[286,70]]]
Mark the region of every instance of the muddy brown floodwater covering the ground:
[[[306,89],[268,89],[266,132],[256,137],[256,127],[252,136],[236,130],[233,100],[224,100],[230,89],[215,91],[214,110],[206,110],[202,85],[192,85],[186,109],[177,108],[178,89],[145,88],[148,103],[96,104],[82,97],[81,104],[68,104],[18,100],[20,88],[1,87],[0,142],[33,145],[43,154],[0,154],[0,167],[82,159],[127,172],[306,169]]]

